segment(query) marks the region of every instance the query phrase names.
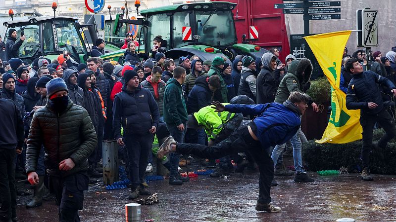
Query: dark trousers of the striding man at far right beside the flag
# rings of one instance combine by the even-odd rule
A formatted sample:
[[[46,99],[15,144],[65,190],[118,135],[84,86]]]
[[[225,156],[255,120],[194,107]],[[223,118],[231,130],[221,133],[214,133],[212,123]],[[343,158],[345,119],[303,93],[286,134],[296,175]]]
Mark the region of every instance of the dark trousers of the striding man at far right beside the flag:
[[[385,130],[384,136],[378,141],[379,147],[385,148],[388,142],[395,137],[395,119],[388,111],[383,109],[375,115],[363,113],[360,116],[360,124],[363,128],[363,146],[361,153],[363,168],[370,166],[370,150],[373,146],[373,129],[376,122]]]

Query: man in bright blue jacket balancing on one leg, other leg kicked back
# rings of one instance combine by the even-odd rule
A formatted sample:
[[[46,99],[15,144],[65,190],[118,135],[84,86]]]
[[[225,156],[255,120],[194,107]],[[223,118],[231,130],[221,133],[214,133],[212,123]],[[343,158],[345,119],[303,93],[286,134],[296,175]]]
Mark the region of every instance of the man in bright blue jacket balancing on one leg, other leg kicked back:
[[[199,144],[177,143],[168,137],[158,151],[158,158],[169,152],[190,153],[201,158],[220,158],[238,151],[248,152],[258,165],[259,194],[256,210],[281,212],[280,207],[271,204],[271,181],[274,178],[274,163],[269,156],[269,148],[286,143],[300,127],[300,115],[306,110],[309,98],[305,94],[293,92],[283,104],[266,103],[257,105],[222,105],[213,101],[218,112],[242,112],[257,117],[247,125],[238,127],[227,139],[211,147]]]

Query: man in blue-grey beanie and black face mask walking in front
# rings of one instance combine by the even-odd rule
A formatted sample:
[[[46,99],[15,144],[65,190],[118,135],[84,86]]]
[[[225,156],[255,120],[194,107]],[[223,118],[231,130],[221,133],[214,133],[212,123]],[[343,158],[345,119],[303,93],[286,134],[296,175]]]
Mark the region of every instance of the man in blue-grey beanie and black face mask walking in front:
[[[44,145],[50,188],[59,206],[59,221],[80,221],[84,190],[88,190],[87,158],[97,146],[88,112],[75,105],[61,78],[47,84],[48,102],[36,111],[26,150],[26,174],[31,185],[39,183],[37,159]]]

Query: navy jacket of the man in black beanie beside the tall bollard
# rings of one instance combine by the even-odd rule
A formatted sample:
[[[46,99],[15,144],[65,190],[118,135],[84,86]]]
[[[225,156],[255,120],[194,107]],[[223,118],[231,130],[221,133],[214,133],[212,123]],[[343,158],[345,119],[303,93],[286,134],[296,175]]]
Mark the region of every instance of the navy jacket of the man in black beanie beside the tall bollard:
[[[146,135],[151,126],[158,126],[159,111],[154,97],[141,85],[134,91],[126,85],[117,93],[113,102],[113,130],[116,139],[121,138],[121,122],[125,135]]]

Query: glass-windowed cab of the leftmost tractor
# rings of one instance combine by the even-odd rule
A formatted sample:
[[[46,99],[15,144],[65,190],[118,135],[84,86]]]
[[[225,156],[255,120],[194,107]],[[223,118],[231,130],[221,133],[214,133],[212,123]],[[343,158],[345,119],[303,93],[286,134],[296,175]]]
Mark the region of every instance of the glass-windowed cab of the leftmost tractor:
[[[32,62],[39,56],[53,60],[67,51],[72,61],[80,63],[86,61],[88,51],[79,32],[78,20],[65,16],[41,16],[7,21],[3,23],[7,27],[4,36],[11,28],[16,30],[17,39],[24,32],[26,39],[19,48],[19,58],[24,61]]]

